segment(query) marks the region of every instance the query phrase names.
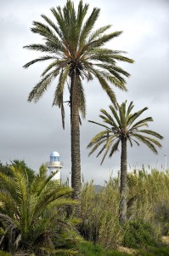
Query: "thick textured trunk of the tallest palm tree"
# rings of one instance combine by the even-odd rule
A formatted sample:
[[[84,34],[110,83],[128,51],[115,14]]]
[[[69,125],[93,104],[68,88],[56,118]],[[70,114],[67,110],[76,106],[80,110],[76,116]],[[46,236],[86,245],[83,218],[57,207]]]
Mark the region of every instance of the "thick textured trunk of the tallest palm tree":
[[[70,87],[70,133],[71,133],[71,187],[74,189],[72,197],[81,197],[81,154],[79,127],[79,77],[77,73],[71,75]]]

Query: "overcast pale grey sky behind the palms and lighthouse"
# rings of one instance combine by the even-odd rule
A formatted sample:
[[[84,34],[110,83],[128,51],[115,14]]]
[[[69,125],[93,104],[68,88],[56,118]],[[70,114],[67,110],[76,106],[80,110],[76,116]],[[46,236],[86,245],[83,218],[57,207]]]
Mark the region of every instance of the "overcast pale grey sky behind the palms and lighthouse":
[[[49,160],[52,151],[58,151],[64,161],[62,177],[70,172],[70,113],[65,105],[65,131],[62,130],[59,109],[52,108],[54,85],[37,104],[27,102],[32,87],[37,84],[47,64],[22,66],[36,54],[23,49],[26,44],[39,43],[41,38],[31,32],[33,20],[41,14],[52,17],[51,7],[63,7],[66,1],[54,0],[0,0],[0,160],[25,160],[35,171]],[[91,3],[90,3],[91,2]],[[168,0],[98,0],[84,1],[101,9],[96,27],[112,25],[111,31],[123,31],[108,46],[127,51],[134,64],[119,64],[131,77],[127,79],[128,92],[115,90],[118,102],[133,101],[138,111],[149,107],[143,117],[152,116],[149,126],[164,137],[163,148],[155,155],[144,145],[129,148],[128,169],[135,166],[165,166],[169,160],[169,1]],[[74,1],[77,5],[78,1]],[[109,108],[110,99],[99,83],[84,82],[87,98],[87,119],[81,127],[82,174],[85,179],[103,183],[113,172],[120,170],[120,152],[100,166],[101,158],[89,158],[87,144],[100,130],[88,119],[101,121],[99,109]],[[113,86],[114,87],[114,86]],[[68,100],[65,95],[65,101]]]

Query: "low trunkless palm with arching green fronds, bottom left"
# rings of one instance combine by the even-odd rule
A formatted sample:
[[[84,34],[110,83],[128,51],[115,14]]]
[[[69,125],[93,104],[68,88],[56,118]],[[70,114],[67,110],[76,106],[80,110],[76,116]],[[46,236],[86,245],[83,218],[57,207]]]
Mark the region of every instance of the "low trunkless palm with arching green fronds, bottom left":
[[[82,241],[76,232],[78,219],[66,218],[65,207],[76,205],[72,189],[60,187],[47,176],[46,166],[29,180],[20,166],[11,166],[12,176],[0,172],[0,249],[36,255],[73,255],[70,246]]]

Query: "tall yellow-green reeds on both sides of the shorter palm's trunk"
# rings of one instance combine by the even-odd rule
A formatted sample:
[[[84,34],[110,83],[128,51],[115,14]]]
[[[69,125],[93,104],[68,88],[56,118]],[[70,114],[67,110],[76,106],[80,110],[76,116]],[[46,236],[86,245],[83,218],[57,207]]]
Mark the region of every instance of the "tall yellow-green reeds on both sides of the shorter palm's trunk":
[[[104,248],[118,247],[127,233],[119,223],[120,180],[110,177],[96,192],[93,181],[83,183],[81,234]],[[152,226],[155,241],[169,230],[169,172],[142,169],[127,174],[127,224],[143,222]],[[146,225],[145,225],[146,226]]]

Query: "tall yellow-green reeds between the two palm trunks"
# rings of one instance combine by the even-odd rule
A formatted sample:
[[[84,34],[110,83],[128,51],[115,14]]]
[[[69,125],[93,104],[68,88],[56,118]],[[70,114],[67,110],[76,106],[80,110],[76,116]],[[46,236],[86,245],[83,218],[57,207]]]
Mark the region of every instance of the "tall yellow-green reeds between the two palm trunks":
[[[112,178],[99,193],[95,192],[93,182],[84,184],[81,234],[86,240],[110,248],[121,243],[123,234],[118,218],[119,200],[118,183]]]

